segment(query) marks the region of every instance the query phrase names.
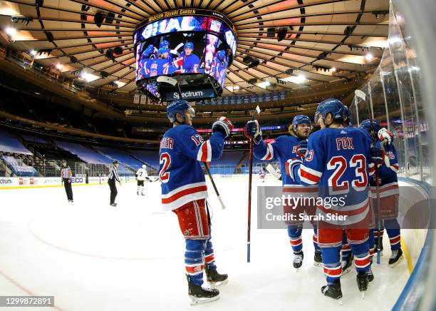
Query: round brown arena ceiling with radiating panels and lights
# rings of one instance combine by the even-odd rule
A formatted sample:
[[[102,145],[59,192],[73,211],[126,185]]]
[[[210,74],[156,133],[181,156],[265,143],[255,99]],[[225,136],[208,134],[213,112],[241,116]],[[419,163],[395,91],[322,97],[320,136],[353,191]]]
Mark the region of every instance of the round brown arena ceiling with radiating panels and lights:
[[[375,70],[388,39],[388,0],[11,0],[0,1],[0,23],[11,48],[33,53],[37,63],[130,92],[136,88],[135,26],[181,8],[219,11],[236,27],[227,95],[364,76]],[[113,20],[98,27],[99,13]],[[119,54],[108,58],[115,48]]]

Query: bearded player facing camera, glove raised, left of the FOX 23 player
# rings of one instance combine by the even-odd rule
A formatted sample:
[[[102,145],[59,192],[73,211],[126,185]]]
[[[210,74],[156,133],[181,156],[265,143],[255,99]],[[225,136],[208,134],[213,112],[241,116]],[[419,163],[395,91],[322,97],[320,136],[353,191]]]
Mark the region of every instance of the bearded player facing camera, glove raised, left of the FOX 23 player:
[[[311,133],[311,119],[308,116],[295,116],[291,126],[289,126],[289,133],[291,136],[280,136],[274,143],[264,143],[262,140],[262,133],[258,121],[249,121],[245,127],[246,136],[254,138],[254,156],[259,160],[279,160],[281,172],[286,172],[286,163],[291,158],[301,158],[303,154],[297,150],[297,145],[301,141],[306,141]],[[284,192],[286,195],[299,197],[316,196],[318,188],[302,187],[295,180],[291,180],[289,173],[281,174]],[[302,190],[304,190],[302,192]],[[303,210],[301,210],[301,208]],[[306,210],[307,214],[315,212],[314,206],[293,207],[284,206],[284,213],[291,215],[299,215]],[[301,233],[303,232],[301,222],[289,222],[288,235],[289,242],[291,243],[292,250],[294,251],[294,267],[298,269],[303,264],[303,240]],[[318,235],[316,233],[316,226],[313,226],[313,245],[315,247],[314,264],[322,265],[321,252],[318,248]]]

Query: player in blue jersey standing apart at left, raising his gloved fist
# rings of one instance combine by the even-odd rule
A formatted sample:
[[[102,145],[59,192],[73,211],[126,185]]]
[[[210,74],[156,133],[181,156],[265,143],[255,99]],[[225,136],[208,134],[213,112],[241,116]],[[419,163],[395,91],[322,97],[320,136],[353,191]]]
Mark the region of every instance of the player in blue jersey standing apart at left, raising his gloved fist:
[[[217,300],[219,290],[202,287],[204,270],[213,286],[225,284],[227,275],[219,274],[215,265],[201,163],[221,157],[224,140],[229,138],[233,125],[227,118],[219,118],[212,124],[212,136],[204,141],[192,128],[194,109],[187,101],[169,103],[167,116],[173,127],[160,142],[162,208],[177,215],[185,237],[185,267],[192,304]]]

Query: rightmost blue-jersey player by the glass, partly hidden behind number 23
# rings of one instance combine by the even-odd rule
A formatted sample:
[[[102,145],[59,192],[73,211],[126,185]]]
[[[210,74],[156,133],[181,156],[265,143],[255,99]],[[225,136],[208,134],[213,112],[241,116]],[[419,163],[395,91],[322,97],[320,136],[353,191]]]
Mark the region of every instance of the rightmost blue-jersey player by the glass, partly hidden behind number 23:
[[[389,265],[395,267],[403,260],[403,250],[400,244],[400,224],[398,223],[398,156],[395,147],[393,146],[393,134],[386,128],[380,128],[377,121],[364,120],[360,123],[360,128],[365,129],[368,133],[374,133],[377,139],[375,146],[380,147],[380,143],[385,141],[384,144],[384,160],[381,165],[378,165],[378,187],[380,196],[380,207],[378,207],[377,200],[377,183],[375,175],[370,180],[371,184],[371,198],[373,198],[373,205],[375,211],[380,208],[381,220],[381,238],[383,238],[383,227],[386,228],[388,233],[391,256],[389,259]],[[378,217],[378,214],[375,214]],[[375,221],[378,224],[378,219]],[[370,248],[371,253],[375,253],[378,242],[378,230],[370,230]],[[383,245],[383,244],[382,244]],[[382,248],[383,250],[383,248]]]

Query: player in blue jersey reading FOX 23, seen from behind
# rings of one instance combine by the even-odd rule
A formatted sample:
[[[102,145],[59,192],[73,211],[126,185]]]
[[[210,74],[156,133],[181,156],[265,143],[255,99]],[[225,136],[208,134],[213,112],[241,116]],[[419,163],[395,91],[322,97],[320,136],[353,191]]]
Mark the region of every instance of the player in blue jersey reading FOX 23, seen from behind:
[[[321,102],[315,115],[321,131],[309,136],[303,162],[290,160],[288,169],[301,185],[319,186],[323,203],[317,210],[318,243],[327,280],[321,292],[334,299],[342,297],[343,229],[354,255],[358,289],[368,289],[369,178],[375,171],[374,161],[381,160],[380,148],[370,147],[368,135],[358,128],[343,128],[343,114],[343,103],[338,99]]]

